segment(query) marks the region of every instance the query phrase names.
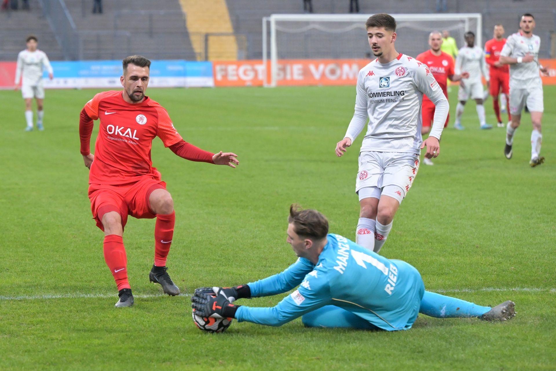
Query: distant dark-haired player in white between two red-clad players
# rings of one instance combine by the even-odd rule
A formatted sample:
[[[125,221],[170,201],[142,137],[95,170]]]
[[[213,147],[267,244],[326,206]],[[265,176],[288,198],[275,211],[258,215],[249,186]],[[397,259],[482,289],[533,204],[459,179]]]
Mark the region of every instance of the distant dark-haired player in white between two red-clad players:
[[[485,107],[483,101],[488,97],[488,91],[483,90],[483,82],[481,81],[481,73],[483,74],[486,85],[489,83],[489,74],[486,69],[485,55],[483,49],[475,46],[475,34],[471,31],[465,33],[465,42],[467,46],[461,48],[458,57],[455,59],[455,73],[460,75],[461,71],[469,72],[469,78],[461,80],[458,90],[458,105],[455,108],[454,127],[463,130],[461,126],[461,115],[463,115],[463,107],[469,98],[474,99],[476,103],[477,115],[481,129],[492,129],[492,125],[487,125],[485,119]]]

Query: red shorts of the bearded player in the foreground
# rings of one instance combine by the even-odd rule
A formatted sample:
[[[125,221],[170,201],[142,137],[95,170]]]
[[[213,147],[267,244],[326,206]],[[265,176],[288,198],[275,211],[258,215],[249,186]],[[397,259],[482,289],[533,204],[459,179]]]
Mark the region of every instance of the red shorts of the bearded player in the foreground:
[[[122,227],[126,226],[127,215],[137,219],[152,219],[156,215],[151,210],[149,197],[155,189],[166,189],[166,183],[152,176],[121,185],[90,184],[89,199],[91,211],[97,226],[104,230],[102,217],[116,211],[122,217]]]

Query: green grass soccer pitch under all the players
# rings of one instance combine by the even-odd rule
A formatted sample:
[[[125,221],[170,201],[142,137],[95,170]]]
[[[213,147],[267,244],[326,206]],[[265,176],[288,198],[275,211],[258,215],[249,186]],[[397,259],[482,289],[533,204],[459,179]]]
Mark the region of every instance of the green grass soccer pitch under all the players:
[[[508,161],[505,130],[480,131],[473,102],[466,130],[451,128],[452,91],[440,157],[420,167],[381,251],[418,268],[429,291],[480,305],[515,301],[514,319],[420,315],[413,329],[393,333],[234,321],[216,335],[195,327],[188,295],[293,263],[292,202],[318,209],[332,233],[354,239],[363,135],[340,159],[334,148],[355,88],[149,90],[186,141],[236,152],[241,163],[189,162],[153,142],[177,216],[169,272],[185,295],[168,297],[149,283],[154,221],[130,217],[124,241],[136,299],[128,309],[113,306],[79,152],[79,113],[96,92],[47,91],[46,130],[24,132],[21,92],[0,91],[0,369],[556,369],[556,87],[544,90],[547,160],[534,169],[528,114]],[[495,124],[492,101],[485,107]],[[93,139],[97,132],[95,123]],[[283,296],[237,303],[272,306]]]

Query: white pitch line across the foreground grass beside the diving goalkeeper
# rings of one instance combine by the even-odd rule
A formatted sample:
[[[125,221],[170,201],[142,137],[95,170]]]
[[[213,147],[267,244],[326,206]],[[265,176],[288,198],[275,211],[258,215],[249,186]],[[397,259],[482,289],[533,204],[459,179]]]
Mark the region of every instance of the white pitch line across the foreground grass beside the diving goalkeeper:
[[[479,292],[492,292],[492,291],[500,291],[500,292],[510,292],[510,291],[518,291],[524,293],[539,293],[539,292],[548,292],[555,294],[556,288],[552,289],[540,289],[540,288],[482,288],[482,289],[432,289],[428,290],[433,293],[479,293]],[[46,299],[80,299],[80,298],[91,298],[91,299],[98,299],[98,298],[114,298],[116,293],[113,294],[44,294],[44,295],[21,295],[21,296],[0,296],[0,300],[46,300]],[[135,298],[157,298],[158,296],[166,296],[166,294],[139,294],[133,295]],[[180,294],[178,296],[185,296],[189,298],[191,294]]]

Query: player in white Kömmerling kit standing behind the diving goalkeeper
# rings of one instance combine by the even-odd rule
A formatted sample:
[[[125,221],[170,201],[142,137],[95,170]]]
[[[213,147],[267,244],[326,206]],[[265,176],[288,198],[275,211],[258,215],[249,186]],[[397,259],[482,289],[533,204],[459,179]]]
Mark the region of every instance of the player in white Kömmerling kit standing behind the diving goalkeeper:
[[[375,14],[365,23],[376,58],[357,78],[355,113],[344,139],[336,144],[340,157],[369,125],[359,154],[355,191],[361,207],[356,242],[376,253],[390,233],[394,214],[425,157],[440,154],[440,135],[449,104],[429,68],[395,50],[396,21]],[[436,106],[429,137],[421,137],[421,101],[425,94]]]

